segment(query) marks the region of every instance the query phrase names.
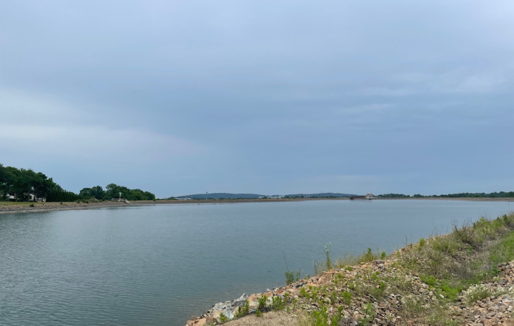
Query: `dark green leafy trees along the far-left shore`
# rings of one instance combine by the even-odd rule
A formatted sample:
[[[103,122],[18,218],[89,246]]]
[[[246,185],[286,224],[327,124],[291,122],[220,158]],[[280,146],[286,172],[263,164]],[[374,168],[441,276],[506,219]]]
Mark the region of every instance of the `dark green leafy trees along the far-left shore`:
[[[0,200],[6,200],[8,195],[14,196],[15,194],[19,201],[30,200],[31,194],[37,198],[46,198],[47,202],[69,202],[90,198],[110,200],[111,198],[119,198],[120,192],[122,198],[127,200],[156,199],[156,196],[149,191],[128,189],[114,183],[107,185],[106,190],[103,190],[101,186],[95,186],[83,188],[78,194],[75,194],[60,187],[44,173],[0,164]]]

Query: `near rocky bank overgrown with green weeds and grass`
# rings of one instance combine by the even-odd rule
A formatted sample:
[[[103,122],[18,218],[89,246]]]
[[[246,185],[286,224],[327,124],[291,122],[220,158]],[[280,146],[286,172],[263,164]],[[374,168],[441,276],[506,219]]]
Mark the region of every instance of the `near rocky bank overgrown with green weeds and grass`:
[[[480,218],[389,257],[346,256],[320,275],[251,295],[247,311],[285,309],[301,326],[514,325],[513,229],[514,214]],[[215,314],[203,317],[221,323],[208,319]]]

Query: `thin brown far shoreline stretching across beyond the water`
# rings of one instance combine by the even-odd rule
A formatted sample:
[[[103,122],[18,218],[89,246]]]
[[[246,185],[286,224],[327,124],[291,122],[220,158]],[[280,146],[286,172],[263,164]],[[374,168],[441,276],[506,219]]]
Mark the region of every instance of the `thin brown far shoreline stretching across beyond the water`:
[[[27,203],[27,202],[0,202],[1,214],[22,214],[55,212],[78,209],[96,209],[108,207],[137,207],[155,205],[199,205],[199,204],[238,204],[238,203],[280,203],[280,202],[301,202],[310,200],[349,200],[349,198],[287,198],[287,199],[223,199],[223,200],[140,200],[131,203],[124,202],[94,202],[94,203]],[[355,199],[363,200],[363,199]],[[465,200],[465,201],[492,201],[492,202],[514,202],[514,198],[374,198],[373,200]],[[34,207],[30,207],[33,204]]]

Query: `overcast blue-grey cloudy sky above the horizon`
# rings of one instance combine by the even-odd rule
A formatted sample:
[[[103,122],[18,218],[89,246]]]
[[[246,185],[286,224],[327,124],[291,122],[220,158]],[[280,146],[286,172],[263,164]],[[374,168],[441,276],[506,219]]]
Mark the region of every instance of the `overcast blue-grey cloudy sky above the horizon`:
[[[65,189],[514,190],[514,2],[0,0],[0,163]]]

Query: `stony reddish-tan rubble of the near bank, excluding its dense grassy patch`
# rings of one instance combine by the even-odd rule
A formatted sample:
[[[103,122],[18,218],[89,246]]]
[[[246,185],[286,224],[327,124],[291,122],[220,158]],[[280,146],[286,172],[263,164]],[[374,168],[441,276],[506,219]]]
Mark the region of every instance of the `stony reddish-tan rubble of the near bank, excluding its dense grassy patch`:
[[[273,298],[281,298],[290,314],[326,311],[328,325],[333,318],[338,318],[337,325],[440,325],[418,319],[417,313],[422,309],[439,309],[436,315],[441,314],[439,317],[446,323],[442,325],[514,325],[514,261],[500,265],[492,282],[462,291],[456,302],[445,303],[445,296],[420,277],[395,267],[397,259],[392,255],[386,260],[333,269],[284,288],[219,302],[206,314],[192,316],[186,326],[217,325],[224,321],[221,316],[232,319],[247,300],[249,313],[255,312],[263,295],[267,297],[267,307],[272,306]],[[490,295],[474,302],[476,293],[472,291],[476,289],[479,295]]]

